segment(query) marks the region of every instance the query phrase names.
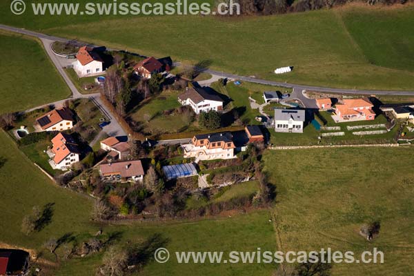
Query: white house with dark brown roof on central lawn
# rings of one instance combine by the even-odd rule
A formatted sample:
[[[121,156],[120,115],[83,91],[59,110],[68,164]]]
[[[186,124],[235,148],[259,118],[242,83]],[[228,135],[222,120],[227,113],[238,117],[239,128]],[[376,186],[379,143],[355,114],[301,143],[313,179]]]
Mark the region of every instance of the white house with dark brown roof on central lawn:
[[[223,110],[223,99],[217,93],[204,88],[188,88],[186,92],[178,96],[178,101],[183,106],[191,106],[196,114],[210,110]]]

